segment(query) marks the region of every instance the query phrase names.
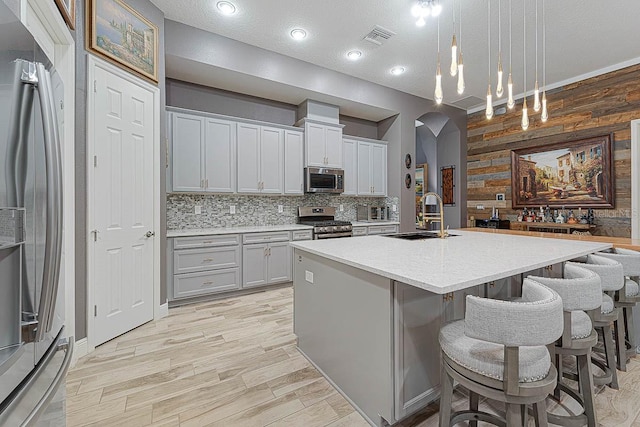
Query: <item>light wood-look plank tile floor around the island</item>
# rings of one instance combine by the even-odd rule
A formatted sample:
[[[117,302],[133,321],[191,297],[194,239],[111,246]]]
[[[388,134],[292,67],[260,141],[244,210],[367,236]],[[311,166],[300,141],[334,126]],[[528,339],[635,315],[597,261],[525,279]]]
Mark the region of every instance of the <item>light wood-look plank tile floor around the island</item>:
[[[292,296],[289,287],[173,308],[103,344],[69,372],[68,426],[368,425],[296,350]],[[602,425],[640,427],[640,361],[628,368],[619,391],[598,394]],[[401,426],[437,426],[437,411]]]

